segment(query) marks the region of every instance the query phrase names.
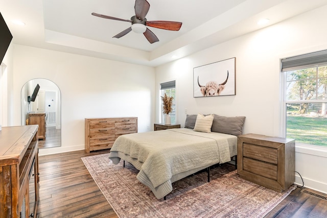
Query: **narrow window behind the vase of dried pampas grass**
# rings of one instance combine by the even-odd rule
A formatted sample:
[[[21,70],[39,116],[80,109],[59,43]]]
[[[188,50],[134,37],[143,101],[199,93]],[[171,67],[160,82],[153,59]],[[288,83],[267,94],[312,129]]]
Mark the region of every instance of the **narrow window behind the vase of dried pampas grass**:
[[[167,96],[172,96],[173,99],[173,111],[170,113],[170,119],[172,124],[176,124],[176,89],[175,89],[175,81],[161,83],[160,84],[160,96],[164,96],[165,93]],[[162,101],[160,98],[160,111],[161,111],[161,123],[164,123],[164,112],[162,111]]]

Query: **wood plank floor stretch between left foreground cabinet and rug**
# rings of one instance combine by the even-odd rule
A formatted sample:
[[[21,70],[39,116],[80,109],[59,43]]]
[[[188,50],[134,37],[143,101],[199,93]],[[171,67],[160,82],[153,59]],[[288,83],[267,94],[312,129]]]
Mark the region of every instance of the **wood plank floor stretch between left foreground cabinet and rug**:
[[[87,155],[78,151],[39,157],[39,217],[118,217],[81,160]]]

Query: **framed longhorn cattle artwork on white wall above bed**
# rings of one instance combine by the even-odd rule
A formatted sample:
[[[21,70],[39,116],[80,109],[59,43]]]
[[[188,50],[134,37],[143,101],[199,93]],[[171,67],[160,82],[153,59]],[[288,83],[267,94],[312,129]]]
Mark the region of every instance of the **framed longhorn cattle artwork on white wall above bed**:
[[[193,96],[236,95],[236,58],[193,68]]]

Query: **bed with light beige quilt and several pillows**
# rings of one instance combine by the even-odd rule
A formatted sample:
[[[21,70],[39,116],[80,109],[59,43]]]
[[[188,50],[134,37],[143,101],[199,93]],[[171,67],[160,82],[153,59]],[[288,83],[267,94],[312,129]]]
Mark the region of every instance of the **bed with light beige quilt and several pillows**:
[[[122,135],[115,140],[109,158],[114,164],[121,160],[131,163],[139,170],[136,178],[157,199],[164,198],[173,190],[173,182],[214,164],[229,162],[237,155],[237,134],[242,133],[245,117],[231,117],[238,120],[238,133],[236,123],[226,117],[232,128],[228,133],[233,133],[227,134],[223,130],[224,117],[212,114],[210,123],[208,116],[186,116],[185,128]]]

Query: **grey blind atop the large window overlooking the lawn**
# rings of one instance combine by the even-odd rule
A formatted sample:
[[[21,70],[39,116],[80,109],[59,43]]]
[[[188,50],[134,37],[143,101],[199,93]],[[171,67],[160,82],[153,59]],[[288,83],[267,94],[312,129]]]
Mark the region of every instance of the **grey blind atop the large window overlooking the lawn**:
[[[282,59],[282,71],[327,65],[327,50]]]

